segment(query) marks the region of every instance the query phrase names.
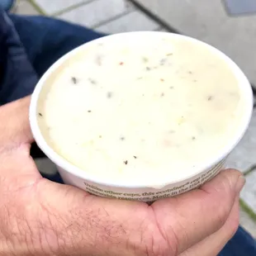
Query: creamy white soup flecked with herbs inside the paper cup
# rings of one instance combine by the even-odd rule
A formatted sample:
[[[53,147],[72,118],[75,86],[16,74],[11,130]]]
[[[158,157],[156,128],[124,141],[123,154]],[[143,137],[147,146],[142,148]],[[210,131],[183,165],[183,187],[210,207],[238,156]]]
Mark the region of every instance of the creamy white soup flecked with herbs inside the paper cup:
[[[239,124],[240,97],[206,45],[113,37],[66,61],[38,119],[50,147],[84,172],[154,183],[217,154]]]

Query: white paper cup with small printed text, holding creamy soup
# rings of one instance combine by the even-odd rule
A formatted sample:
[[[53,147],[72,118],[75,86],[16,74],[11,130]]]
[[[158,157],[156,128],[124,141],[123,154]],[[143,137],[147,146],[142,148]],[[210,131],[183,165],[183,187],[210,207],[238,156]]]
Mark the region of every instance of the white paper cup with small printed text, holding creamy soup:
[[[169,38],[183,37],[183,39],[188,41],[196,42],[197,44],[203,44],[209,48],[209,50],[214,51],[216,55],[219,55],[220,58],[224,59],[226,64],[230,66],[230,69],[233,70],[236,78],[239,81],[239,86],[241,88],[241,96],[244,97],[244,107],[243,115],[241,117],[239,127],[236,127],[237,132],[231,137],[229,143],[227,143],[216,155],[212,155],[211,161],[208,163],[202,163],[201,167],[197,171],[191,171],[189,175],[183,175],[182,171],[180,177],[175,179],[175,181],[168,182],[164,180],[161,185],[157,187],[148,187],[145,184],[140,184],[138,181],[135,183],[115,183],[111,180],[107,181],[103,178],[93,177],[92,173],[87,173],[84,170],[79,169],[78,167],[70,164],[69,161],[62,158],[57,154],[45,141],[38,123],[38,105],[40,102],[44,101],[45,95],[47,94],[47,86],[50,86],[52,79],[55,77],[56,73],[61,70],[62,66],[69,61],[74,55],[78,55],[79,52],[83,52],[88,45],[95,43],[100,43],[105,40],[138,40],[138,36],[147,36],[154,33],[154,36],[166,36]],[[173,197],[192,190],[193,188],[200,187],[201,184],[206,183],[211,178],[216,176],[225,165],[225,159],[230,154],[232,149],[235,148],[235,145],[239,143],[242,136],[244,135],[245,130],[249,126],[250,117],[253,110],[253,93],[248,79],[244,76],[244,73],[239,69],[239,67],[226,55],[221,53],[219,50],[216,50],[211,45],[206,45],[205,43],[192,39],[187,36],[180,36],[171,33],[164,32],[130,32],[123,34],[116,34],[113,36],[106,36],[98,40],[93,40],[85,45],[78,47],[75,50],[72,50],[67,55],[64,55],[59,59],[55,64],[53,64],[50,69],[44,74],[40,79],[39,83],[36,85],[35,92],[33,92],[31,97],[31,108],[30,108],[30,122],[31,130],[36,140],[37,145],[40,149],[51,159],[59,169],[59,173],[64,180],[64,183],[73,185],[75,187],[80,187],[83,190],[92,193],[100,197],[111,197],[118,199],[126,199],[133,201],[155,201],[159,198],[164,197]],[[211,145],[209,145],[211,146]],[[186,172],[187,173],[187,172]]]

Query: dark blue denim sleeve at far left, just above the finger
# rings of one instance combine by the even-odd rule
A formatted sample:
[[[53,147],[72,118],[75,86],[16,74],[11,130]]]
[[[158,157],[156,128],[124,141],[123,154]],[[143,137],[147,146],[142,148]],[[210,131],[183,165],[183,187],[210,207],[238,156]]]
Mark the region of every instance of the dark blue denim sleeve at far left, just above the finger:
[[[0,10],[0,105],[33,92],[37,75],[12,21]]]

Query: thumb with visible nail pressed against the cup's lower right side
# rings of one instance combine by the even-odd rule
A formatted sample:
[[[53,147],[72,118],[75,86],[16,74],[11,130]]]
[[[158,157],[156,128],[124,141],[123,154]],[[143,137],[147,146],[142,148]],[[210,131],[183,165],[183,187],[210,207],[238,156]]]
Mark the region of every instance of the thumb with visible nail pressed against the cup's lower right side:
[[[244,186],[242,174],[225,170],[200,189],[154,202],[159,230],[177,254],[220,230]]]

